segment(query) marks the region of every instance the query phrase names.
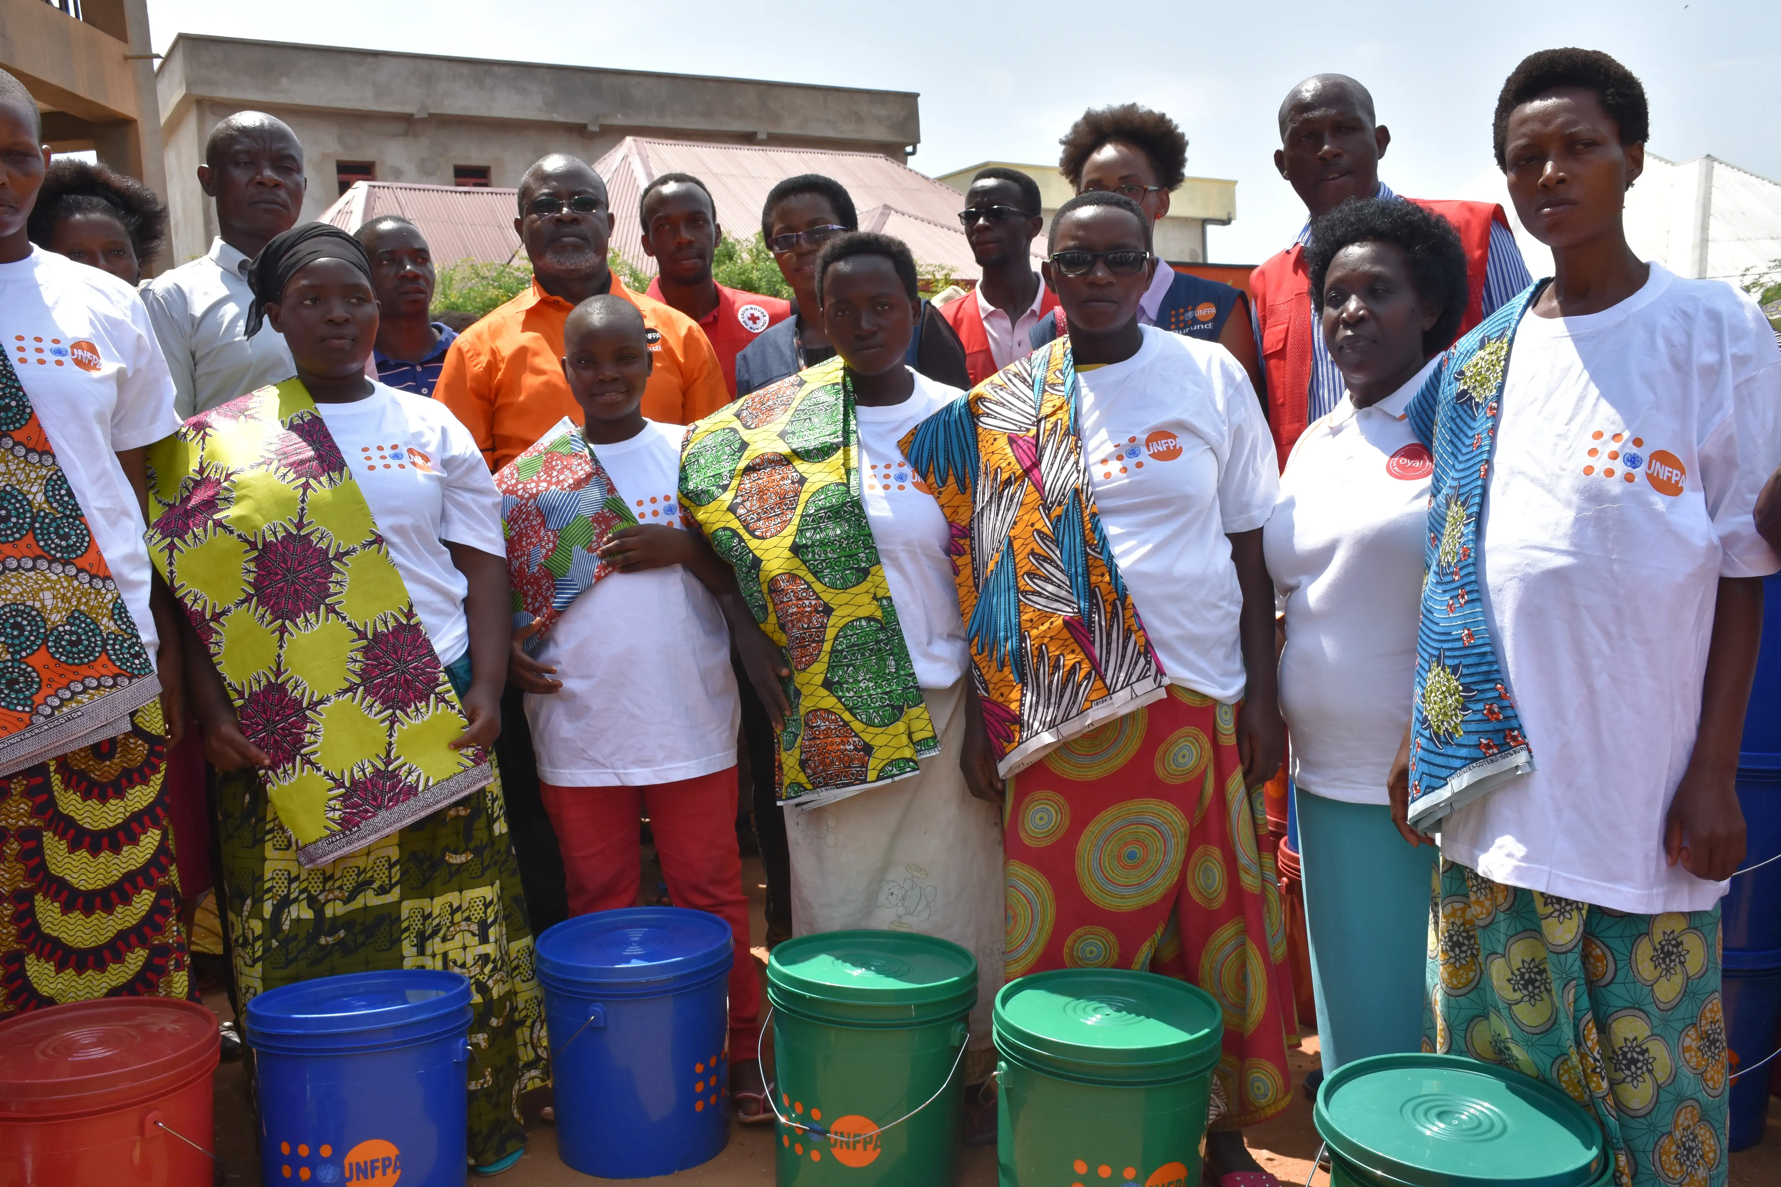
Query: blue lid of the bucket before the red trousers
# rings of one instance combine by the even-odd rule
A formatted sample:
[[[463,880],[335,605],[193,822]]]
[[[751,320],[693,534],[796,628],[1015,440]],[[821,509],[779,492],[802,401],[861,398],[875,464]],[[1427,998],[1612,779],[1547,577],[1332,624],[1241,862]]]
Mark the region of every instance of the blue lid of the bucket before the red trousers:
[[[622,908],[565,920],[538,936],[538,977],[554,988],[670,991],[732,963],[736,936],[707,911]]]

